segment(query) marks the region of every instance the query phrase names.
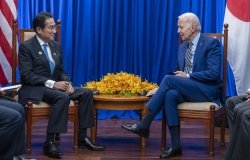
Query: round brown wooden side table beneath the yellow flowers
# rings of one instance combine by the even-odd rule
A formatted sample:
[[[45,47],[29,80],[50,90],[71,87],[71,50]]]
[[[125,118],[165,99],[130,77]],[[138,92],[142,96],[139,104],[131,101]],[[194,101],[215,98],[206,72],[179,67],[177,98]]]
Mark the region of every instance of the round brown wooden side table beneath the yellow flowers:
[[[146,96],[120,96],[120,95],[94,95],[94,126],[91,128],[91,139],[95,143],[97,135],[97,110],[138,110],[142,119],[147,108],[145,103],[149,100]],[[146,139],[140,138],[141,146],[146,146]]]

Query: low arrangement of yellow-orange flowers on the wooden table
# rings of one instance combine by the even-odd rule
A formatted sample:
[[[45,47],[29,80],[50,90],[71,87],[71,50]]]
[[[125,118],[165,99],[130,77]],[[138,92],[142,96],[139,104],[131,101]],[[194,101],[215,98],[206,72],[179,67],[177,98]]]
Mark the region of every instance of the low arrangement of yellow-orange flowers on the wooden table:
[[[142,81],[141,77],[126,73],[108,73],[100,81],[87,82],[86,88],[100,94],[145,95],[149,90],[157,88],[157,84]]]

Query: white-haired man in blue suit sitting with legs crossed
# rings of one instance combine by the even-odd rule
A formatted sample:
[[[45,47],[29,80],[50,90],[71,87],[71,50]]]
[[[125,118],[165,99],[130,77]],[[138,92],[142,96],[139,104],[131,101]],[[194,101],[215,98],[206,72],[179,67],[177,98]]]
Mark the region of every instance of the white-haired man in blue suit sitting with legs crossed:
[[[182,153],[178,104],[185,101],[220,101],[221,45],[218,40],[201,34],[200,29],[195,14],[184,13],[178,17],[178,33],[184,43],[179,47],[174,75],[163,78],[157,92],[146,104],[149,112],[142,121],[122,126],[132,133],[148,137],[152,120],[164,107],[171,146],[160,154],[161,158]]]

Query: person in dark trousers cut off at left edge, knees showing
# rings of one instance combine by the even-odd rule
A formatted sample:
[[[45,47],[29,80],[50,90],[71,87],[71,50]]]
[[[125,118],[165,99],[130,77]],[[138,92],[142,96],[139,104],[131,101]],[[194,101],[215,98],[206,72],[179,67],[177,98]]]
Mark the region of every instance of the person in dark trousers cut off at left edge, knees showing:
[[[6,97],[0,88],[0,159],[25,160],[25,115],[21,104]]]

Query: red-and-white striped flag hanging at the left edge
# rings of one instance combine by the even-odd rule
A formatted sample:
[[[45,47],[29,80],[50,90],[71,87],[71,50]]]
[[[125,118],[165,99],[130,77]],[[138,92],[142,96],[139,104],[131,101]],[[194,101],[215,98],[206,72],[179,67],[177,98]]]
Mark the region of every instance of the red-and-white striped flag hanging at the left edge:
[[[12,23],[17,18],[17,0],[0,0],[0,83],[12,76]]]

